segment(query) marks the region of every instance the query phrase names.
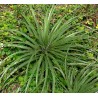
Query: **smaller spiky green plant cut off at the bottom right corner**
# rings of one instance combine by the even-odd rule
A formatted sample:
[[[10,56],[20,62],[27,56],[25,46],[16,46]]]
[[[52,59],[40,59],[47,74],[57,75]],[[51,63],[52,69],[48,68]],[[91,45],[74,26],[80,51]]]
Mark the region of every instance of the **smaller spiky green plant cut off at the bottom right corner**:
[[[98,92],[98,64],[90,64],[80,70],[65,64],[65,80],[58,78],[65,93]]]

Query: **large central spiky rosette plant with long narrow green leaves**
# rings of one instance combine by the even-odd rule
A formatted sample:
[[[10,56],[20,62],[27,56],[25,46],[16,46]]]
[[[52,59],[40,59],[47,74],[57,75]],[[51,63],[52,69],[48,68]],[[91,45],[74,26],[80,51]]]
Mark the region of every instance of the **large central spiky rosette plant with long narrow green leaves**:
[[[18,51],[9,55],[2,62],[6,68],[0,74],[1,83],[3,88],[6,87],[8,80],[22,71],[24,75],[22,92],[28,92],[33,81],[35,81],[34,91],[55,92],[57,74],[64,77],[64,66],[61,65],[65,60],[66,52],[70,47],[76,46],[75,40],[81,37],[83,31],[69,32],[74,28],[72,22],[77,17],[72,17],[66,22],[63,21],[63,17],[51,27],[54,6],[46,13],[42,25],[39,24],[31,5],[30,11],[33,23],[23,14],[28,33],[9,30],[14,41],[6,43],[5,47],[18,49]],[[6,78],[3,79],[4,77]]]

